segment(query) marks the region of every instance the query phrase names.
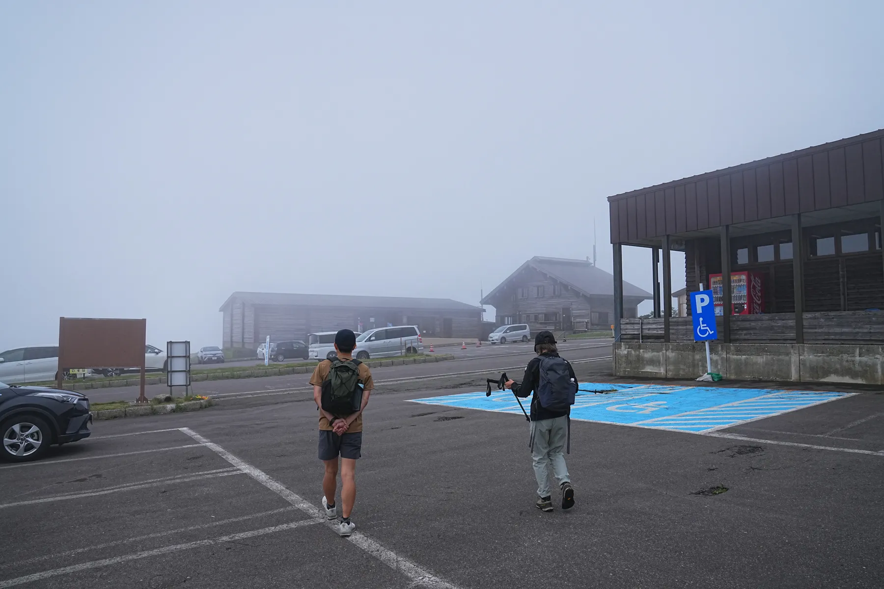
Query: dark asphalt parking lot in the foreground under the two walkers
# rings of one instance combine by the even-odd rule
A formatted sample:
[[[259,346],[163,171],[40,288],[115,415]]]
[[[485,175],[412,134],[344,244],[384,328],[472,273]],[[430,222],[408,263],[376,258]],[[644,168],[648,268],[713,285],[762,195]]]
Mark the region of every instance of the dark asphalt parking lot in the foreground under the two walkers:
[[[372,396],[351,540],[317,517],[307,395],[96,422],[0,466],[0,587],[880,587],[882,395],[715,435],[573,421],[577,505],[545,514],[521,415],[409,402],[471,390]]]

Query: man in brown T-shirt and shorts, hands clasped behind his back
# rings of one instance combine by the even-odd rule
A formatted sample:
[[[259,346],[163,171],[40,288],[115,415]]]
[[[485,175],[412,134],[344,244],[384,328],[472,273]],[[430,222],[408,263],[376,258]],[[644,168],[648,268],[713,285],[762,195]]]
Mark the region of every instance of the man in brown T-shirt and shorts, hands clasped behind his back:
[[[356,501],[356,459],[362,456],[362,412],[375,388],[368,366],[353,359],[356,336],[341,329],[334,337],[338,357],[316,366],[310,384],[319,409],[319,459],[325,464],[323,510],[325,517],[337,517],[335,492],[340,457],[341,521],[338,533],[349,536],[356,529],[350,513]]]

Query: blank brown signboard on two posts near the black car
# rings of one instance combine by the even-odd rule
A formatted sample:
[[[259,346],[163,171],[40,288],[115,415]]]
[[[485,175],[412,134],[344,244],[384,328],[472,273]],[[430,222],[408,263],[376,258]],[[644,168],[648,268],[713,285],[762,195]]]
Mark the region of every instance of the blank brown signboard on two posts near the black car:
[[[58,376],[70,368],[141,368],[140,403],[144,396],[146,319],[72,319],[58,321]]]

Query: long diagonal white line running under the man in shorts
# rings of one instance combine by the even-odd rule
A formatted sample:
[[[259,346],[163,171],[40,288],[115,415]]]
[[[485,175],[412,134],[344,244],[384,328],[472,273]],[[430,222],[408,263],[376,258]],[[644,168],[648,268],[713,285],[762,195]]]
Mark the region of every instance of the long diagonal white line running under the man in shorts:
[[[240,471],[248,474],[248,476],[250,476],[252,479],[257,480],[264,487],[271,489],[271,491],[285,499],[287,502],[290,502],[299,510],[304,511],[312,517],[318,517],[319,508],[313,505],[313,503],[302,499],[298,495],[295,495],[282,483],[279,483],[277,480],[271,479],[271,477],[265,472],[258,470],[257,468],[255,468],[255,466],[252,466],[251,464],[240,460],[240,458],[233,456],[230,452],[221,448],[221,446],[217,445],[214,442],[210,442],[206,438],[202,437],[202,435],[194,432],[189,427],[182,427],[181,431],[194,438],[195,441],[202,443],[202,445],[206,448],[216,452],[218,456],[224,458],[227,462],[239,468]],[[329,527],[334,526],[333,522],[327,522],[327,524],[329,525]],[[412,581],[412,586],[436,587],[438,589],[459,589],[457,585],[453,585],[451,583],[448,583],[447,581],[442,580],[441,578],[436,577],[430,571],[423,570],[416,563],[408,560],[408,558],[397,555],[392,550],[381,546],[375,540],[370,539],[369,536],[362,532],[354,532],[354,534],[347,538],[347,540],[349,540],[355,546],[362,548],[362,550],[365,550],[367,553],[377,558],[377,560],[379,560],[381,563],[386,564],[392,570],[397,570],[408,577]]]

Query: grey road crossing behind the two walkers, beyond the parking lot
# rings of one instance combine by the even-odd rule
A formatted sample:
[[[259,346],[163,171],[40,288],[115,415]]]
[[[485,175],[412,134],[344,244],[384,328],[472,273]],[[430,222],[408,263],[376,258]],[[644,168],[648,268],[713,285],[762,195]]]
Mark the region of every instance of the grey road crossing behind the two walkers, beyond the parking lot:
[[[611,355],[610,341],[598,340],[572,340],[560,344],[561,354],[569,360],[598,359]],[[503,346],[482,346],[472,350],[461,351],[458,359],[447,360],[432,364],[414,364],[408,366],[374,366],[371,369],[375,380],[380,382],[395,381],[395,379],[415,379],[439,374],[461,374],[457,382],[461,385],[475,382],[476,386],[485,386],[484,379],[502,370],[514,370],[513,375],[518,373],[519,366],[528,364],[528,360],[534,357],[533,346],[530,344],[507,344]],[[519,378],[519,376],[516,376]],[[261,378],[237,379],[229,381],[198,381],[194,382],[192,389],[195,394],[210,395],[217,398],[232,395],[259,395],[259,394],[283,394],[289,389],[299,389],[309,386],[310,374],[286,374],[284,376],[265,376]],[[81,391],[89,397],[92,403],[107,401],[131,400],[138,396],[137,387],[118,387],[113,389],[90,389]],[[145,395],[148,397],[168,394],[169,388],[164,384],[155,384],[145,387]],[[183,390],[176,390],[176,394]]]

